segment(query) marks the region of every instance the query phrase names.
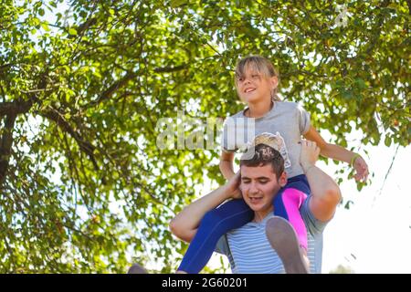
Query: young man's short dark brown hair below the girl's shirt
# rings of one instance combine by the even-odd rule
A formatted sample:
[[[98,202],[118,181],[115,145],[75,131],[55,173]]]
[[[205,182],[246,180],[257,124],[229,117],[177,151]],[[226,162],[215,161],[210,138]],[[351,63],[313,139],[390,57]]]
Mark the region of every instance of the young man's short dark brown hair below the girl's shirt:
[[[240,167],[243,165],[256,167],[267,164],[271,165],[272,171],[279,179],[279,176],[284,172],[284,158],[279,151],[263,143],[248,148],[240,159]]]

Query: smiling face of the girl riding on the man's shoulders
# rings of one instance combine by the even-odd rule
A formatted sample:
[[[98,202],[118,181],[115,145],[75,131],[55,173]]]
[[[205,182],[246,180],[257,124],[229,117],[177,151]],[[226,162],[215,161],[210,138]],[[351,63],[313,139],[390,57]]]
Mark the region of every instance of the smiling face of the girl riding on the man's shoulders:
[[[261,72],[248,66],[244,76],[237,77],[237,93],[247,103],[271,99],[271,92],[277,88],[278,78],[267,78]]]

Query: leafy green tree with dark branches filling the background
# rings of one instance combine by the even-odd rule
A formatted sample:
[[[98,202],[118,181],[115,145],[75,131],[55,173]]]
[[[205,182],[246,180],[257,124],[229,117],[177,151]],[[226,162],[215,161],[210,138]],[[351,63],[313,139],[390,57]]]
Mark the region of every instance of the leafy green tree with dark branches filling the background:
[[[410,8],[353,1],[340,23],[325,1],[2,1],[0,271],[124,272],[127,253],[173,270],[169,220],[204,175],[224,181],[218,151],[159,149],[157,122],[243,108],[238,57],[273,60],[333,142],[408,145]]]

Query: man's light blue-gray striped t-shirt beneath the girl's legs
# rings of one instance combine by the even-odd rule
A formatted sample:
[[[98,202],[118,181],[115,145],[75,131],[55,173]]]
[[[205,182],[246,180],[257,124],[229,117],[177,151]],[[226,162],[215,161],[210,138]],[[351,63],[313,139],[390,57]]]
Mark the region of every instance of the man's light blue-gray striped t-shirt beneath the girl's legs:
[[[300,214],[307,228],[308,257],[311,274],[321,274],[322,232],[328,222],[314,217],[309,208],[311,196],[302,203]],[[273,214],[262,222],[250,222],[221,236],[216,253],[227,255],[234,274],[281,274],[284,273],[279,255],[269,245],[265,228]]]

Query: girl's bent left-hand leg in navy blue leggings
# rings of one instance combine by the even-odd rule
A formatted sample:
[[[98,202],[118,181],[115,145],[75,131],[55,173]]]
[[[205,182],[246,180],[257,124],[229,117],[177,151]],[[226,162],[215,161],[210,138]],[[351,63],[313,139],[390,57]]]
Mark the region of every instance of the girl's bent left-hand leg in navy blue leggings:
[[[198,226],[193,241],[188,246],[178,271],[199,273],[207,264],[216,243],[228,231],[239,228],[252,220],[254,212],[244,200],[231,200],[208,212]]]

